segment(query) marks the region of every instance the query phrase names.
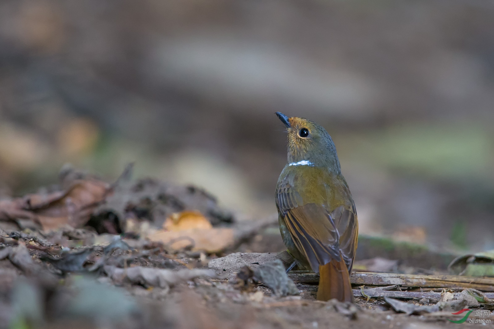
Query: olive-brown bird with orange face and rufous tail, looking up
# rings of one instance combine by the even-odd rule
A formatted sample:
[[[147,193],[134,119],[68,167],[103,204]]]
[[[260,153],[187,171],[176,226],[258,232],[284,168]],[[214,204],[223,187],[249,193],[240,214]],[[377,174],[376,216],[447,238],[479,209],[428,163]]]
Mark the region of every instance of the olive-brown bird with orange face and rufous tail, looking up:
[[[288,133],[288,163],[276,186],[283,242],[301,268],[319,273],[318,300],[353,302],[350,273],[359,228],[336,146],[316,122],[276,115]]]

